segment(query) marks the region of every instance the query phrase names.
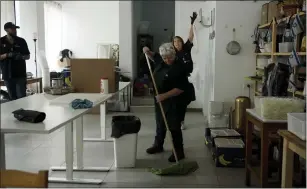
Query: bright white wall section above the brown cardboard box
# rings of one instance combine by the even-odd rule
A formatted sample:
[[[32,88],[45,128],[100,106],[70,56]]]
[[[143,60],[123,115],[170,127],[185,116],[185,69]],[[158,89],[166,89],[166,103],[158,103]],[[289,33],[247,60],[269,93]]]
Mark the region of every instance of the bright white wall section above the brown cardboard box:
[[[63,48],[96,58],[98,43],[119,43],[119,1],[65,1]]]

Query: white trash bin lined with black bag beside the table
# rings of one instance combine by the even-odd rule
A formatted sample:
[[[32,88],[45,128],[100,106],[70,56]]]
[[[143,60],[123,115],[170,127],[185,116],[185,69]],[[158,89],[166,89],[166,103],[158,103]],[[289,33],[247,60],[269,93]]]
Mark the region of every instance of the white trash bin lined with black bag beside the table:
[[[114,160],[117,168],[135,167],[137,154],[137,134],[141,121],[135,116],[113,116],[112,134],[114,138]]]

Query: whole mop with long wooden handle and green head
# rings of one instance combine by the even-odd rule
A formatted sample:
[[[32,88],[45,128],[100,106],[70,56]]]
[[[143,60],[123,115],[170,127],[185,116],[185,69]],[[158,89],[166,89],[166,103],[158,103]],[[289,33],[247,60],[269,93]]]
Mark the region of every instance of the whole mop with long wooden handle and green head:
[[[157,86],[156,86],[155,79],[153,77],[153,72],[152,72],[152,69],[151,69],[151,66],[150,66],[150,63],[149,63],[149,58],[146,54],[145,54],[145,57],[146,57],[147,65],[148,65],[148,68],[149,68],[150,76],[152,78],[154,89],[156,91],[156,94],[159,94]],[[175,150],[175,146],[174,146],[174,143],[173,143],[173,137],[172,137],[172,134],[170,132],[170,129],[169,129],[166,117],[165,117],[165,112],[164,112],[164,109],[163,109],[161,102],[159,102],[159,106],[160,106],[160,109],[161,109],[161,114],[162,114],[162,117],[163,117],[163,120],[164,120],[166,130],[167,130],[166,136],[168,137],[169,141],[171,142],[172,150],[173,150],[175,160],[176,160],[176,164],[171,165],[168,168],[151,168],[150,172],[152,172],[153,174],[156,174],[156,175],[163,176],[163,175],[186,175],[186,174],[189,174],[191,172],[196,171],[199,168],[196,161],[179,162],[178,156],[177,156],[177,153],[176,153],[176,150]]]

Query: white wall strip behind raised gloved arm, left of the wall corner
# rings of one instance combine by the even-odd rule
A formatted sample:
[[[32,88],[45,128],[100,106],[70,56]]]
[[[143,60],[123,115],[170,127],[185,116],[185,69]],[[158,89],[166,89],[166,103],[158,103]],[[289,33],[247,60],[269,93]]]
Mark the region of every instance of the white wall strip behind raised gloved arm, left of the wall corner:
[[[190,16],[193,12],[199,12],[203,9],[204,16],[214,8],[215,2],[207,1],[176,1],[175,14],[175,35],[181,36],[184,40],[188,38],[190,28]],[[209,74],[210,54],[213,54],[213,42],[209,41],[209,32],[211,28],[203,27],[199,24],[199,18],[195,21],[195,38],[194,47],[192,49],[192,58],[194,62],[194,71],[190,77],[190,81],[194,84],[196,90],[196,101],[190,104],[190,108],[203,108],[207,106],[210,98]],[[209,53],[211,52],[211,53]],[[211,57],[212,59],[212,57]]]

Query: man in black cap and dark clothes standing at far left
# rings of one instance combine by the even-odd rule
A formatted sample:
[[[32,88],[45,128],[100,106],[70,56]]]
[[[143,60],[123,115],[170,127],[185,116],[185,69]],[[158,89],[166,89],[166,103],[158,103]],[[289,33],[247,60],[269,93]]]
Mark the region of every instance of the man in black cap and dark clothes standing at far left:
[[[7,35],[0,39],[0,68],[10,100],[26,96],[26,60],[30,59],[27,42],[25,39],[17,36],[16,29],[19,29],[19,26],[12,22],[6,23],[4,30]]]

